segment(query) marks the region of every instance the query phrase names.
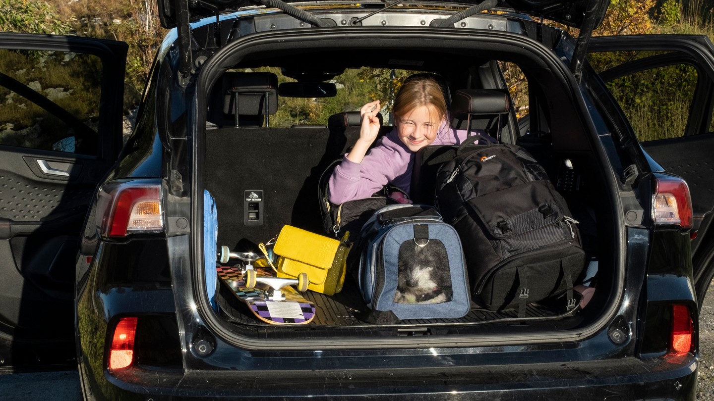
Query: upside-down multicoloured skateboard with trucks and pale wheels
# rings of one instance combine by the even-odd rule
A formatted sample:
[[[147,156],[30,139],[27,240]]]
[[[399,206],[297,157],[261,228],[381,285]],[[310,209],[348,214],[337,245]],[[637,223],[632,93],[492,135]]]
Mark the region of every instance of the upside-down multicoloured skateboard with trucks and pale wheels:
[[[246,265],[242,266],[218,265],[218,278],[231,289],[236,298],[248,305],[256,318],[265,323],[310,323],[315,318],[315,304],[298,293],[298,290],[307,290],[307,275],[301,275],[298,279],[278,278],[267,266],[253,266],[256,259],[249,262],[244,260]]]

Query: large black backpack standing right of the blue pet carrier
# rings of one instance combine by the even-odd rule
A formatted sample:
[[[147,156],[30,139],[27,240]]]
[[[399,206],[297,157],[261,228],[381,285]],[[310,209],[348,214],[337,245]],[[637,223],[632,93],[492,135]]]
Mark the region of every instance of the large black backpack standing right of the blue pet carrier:
[[[543,167],[525,149],[500,143],[463,152],[459,147],[436,178],[436,204],[461,237],[472,299],[488,310],[565,295],[575,308],[573,283],[585,265],[568,205]]]

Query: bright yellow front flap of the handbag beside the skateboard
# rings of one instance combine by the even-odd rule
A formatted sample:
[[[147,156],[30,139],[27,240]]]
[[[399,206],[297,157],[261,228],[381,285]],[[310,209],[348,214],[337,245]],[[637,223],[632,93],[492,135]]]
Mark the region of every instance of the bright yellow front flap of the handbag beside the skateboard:
[[[284,225],[273,251],[284,258],[298,260],[321,269],[332,267],[340,241]]]

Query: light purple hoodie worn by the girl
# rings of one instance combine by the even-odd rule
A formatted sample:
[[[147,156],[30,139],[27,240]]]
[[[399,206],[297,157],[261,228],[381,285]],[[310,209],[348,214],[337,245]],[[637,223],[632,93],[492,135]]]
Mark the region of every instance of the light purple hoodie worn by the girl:
[[[432,145],[453,145],[466,138],[466,130],[455,130],[444,121]],[[339,205],[348,200],[368,198],[391,184],[409,193],[414,153],[399,139],[396,127],[377,140],[362,163],[343,158],[329,181],[328,198]]]

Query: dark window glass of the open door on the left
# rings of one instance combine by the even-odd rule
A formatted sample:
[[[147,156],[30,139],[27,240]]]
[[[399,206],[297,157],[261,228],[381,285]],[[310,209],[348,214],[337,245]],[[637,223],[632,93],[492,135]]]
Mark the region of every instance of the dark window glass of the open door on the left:
[[[0,145],[96,155],[101,61],[0,49]]]

